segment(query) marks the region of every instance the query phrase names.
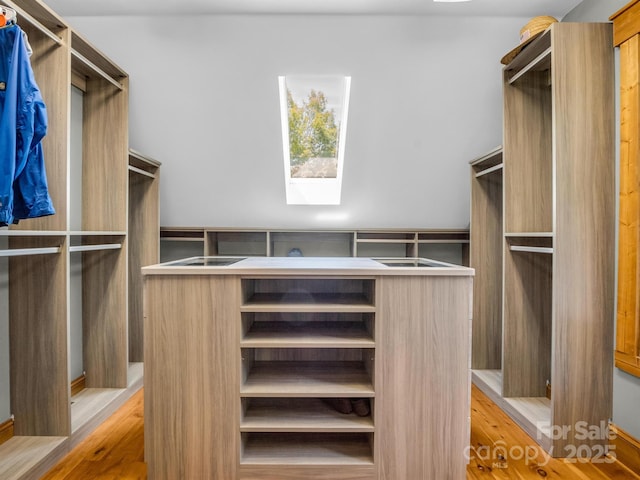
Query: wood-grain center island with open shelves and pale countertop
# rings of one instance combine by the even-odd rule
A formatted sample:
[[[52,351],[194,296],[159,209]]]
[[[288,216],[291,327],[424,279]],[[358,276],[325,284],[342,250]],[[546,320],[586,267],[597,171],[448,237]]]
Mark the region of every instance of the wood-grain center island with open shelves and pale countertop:
[[[194,257],[142,271],[150,480],[466,478],[473,269]]]

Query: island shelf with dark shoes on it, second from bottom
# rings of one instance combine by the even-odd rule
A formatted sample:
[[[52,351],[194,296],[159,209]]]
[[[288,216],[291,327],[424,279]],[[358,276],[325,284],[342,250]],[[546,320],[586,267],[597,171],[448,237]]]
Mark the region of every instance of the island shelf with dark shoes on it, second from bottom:
[[[343,414],[318,398],[253,398],[241,432],[373,432],[371,416]]]

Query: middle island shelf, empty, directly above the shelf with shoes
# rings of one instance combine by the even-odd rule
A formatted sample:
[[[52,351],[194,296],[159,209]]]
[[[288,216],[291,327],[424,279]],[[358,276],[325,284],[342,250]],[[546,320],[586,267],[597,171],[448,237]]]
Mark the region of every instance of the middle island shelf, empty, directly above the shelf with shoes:
[[[373,397],[362,362],[255,362],[242,397]]]

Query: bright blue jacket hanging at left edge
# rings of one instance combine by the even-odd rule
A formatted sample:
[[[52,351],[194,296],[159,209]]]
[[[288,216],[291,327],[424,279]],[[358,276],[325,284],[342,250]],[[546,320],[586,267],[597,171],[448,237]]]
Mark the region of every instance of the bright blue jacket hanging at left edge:
[[[55,213],[40,143],[46,133],[22,30],[0,28],[0,225]]]

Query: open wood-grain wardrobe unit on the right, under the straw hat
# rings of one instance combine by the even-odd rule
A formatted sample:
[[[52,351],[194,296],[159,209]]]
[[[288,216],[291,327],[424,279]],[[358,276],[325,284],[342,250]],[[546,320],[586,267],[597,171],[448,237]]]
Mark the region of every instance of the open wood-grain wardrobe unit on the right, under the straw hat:
[[[610,24],[553,24],[504,67],[503,147],[471,163],[473,379],[556,457],[609,444],[613,73]]]

